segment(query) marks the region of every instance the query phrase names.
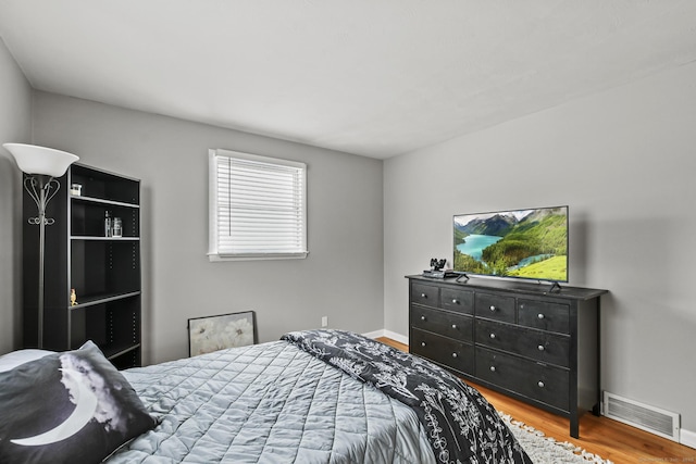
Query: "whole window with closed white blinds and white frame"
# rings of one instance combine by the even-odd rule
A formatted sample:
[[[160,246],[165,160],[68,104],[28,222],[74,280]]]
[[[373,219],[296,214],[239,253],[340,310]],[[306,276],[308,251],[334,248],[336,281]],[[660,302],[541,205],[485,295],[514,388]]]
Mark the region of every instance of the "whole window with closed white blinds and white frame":
[[[307,256],[307,165],[210,150],[211,261]]]

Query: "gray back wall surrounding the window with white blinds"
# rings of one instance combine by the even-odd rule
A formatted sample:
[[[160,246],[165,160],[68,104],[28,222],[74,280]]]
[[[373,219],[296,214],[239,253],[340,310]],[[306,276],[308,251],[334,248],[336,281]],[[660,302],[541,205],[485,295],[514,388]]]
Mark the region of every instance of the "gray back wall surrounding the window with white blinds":
[[[384,327],[382,161],[36,92],[36,143],[140,178],[146,361],[188,354],[189,317],[254,310],[260,341]],[[309,258],[208,260],[208,149],[308,163]]]

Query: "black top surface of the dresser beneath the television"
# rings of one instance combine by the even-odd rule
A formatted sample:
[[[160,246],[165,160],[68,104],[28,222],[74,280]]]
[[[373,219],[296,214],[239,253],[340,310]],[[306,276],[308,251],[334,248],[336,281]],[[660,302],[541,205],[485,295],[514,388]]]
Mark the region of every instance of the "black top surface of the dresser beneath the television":
[[[573,300],[591,300],[593,298],[600,297],[608,293],[609,290],[600,290],[596,288],[584,287],[570,287],[560,284],[560,290],[558,286],[551,291],[552,283],[549,281],[526,281],[526,280],[509,280],[500,278],[485,278],[485,277],[469,277],[469,279],[462,278],[461,281],[457,281],[456,277],[452,278],[433,278],[422,275],[406,276],[411,280],[421,280],[433,285],[448,285],[459,288],[471,288],[478,290],[496,290],[496,291],[513,291],[515,293],[525,293],[543,297],[557,297],[557,298],[570,298]]]

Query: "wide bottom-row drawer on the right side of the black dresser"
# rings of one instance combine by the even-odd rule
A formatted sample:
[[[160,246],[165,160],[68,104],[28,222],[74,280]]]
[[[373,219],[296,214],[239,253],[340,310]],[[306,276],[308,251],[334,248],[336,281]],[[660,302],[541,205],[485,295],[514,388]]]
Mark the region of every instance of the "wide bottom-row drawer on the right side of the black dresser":
[[[535,401],[570,411],[567,369],[476,347],[475,375]]]

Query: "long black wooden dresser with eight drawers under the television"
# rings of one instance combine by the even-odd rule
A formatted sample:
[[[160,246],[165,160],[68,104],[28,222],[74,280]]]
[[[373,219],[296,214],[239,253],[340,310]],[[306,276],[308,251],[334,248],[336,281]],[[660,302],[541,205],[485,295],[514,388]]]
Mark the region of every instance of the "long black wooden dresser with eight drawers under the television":
[[[599,414],[599,299],[607,290],[407,276],[409,351],[570,419]]]

